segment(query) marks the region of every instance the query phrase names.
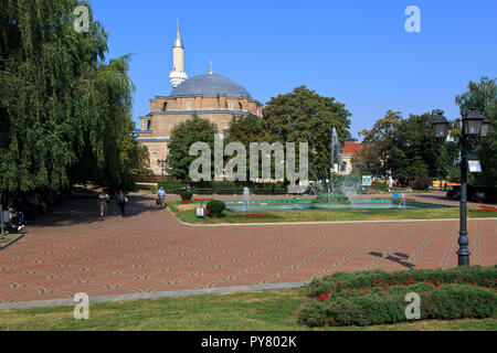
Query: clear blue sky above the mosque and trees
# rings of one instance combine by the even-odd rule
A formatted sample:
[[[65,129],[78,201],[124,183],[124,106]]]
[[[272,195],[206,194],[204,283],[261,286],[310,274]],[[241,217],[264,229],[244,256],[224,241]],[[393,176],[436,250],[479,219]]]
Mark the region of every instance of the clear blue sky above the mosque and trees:
[[[352,114],[352,136],[389,109],[445,110],[469,81],[497,77],[497,1],[89,0],[109,36],[108,57],[133,53],[133,116],[169,95],[171,46],[180,19],[189,76],[209,72],[261,103],[306,85]],[[408,33],[408,6],[421,33]]]

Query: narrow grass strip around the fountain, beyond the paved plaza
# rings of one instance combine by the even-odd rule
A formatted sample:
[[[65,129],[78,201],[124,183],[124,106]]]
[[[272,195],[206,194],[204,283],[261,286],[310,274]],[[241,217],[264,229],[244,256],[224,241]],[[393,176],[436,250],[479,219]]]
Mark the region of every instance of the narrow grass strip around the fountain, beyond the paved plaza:
[[[267,217],[235,217],[235,213],[225,211],[220,218],[198,218],[194,207],[198,204],[169,202],[170,210],[186,223],[278,223],[278,222],[330,222],[330,221],[389,221],[389,220],[443,220],[458,218],[458,207],[415,208],[415,210],[296,210],[263,212]],[[469,208],[472,210],[472,208]],[[476,208],[473,208],[476,210]],[[256,212],[256,211],[255,211]],[[496,212],[468,212],[468,218],[496,217]]]

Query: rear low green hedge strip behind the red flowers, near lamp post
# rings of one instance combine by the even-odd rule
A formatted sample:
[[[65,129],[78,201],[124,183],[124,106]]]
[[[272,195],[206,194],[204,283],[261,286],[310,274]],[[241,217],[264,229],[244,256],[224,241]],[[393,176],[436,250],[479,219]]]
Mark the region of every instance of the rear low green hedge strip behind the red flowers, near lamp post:
[[[455,267],[450,269],[416,269],[388,272],[381,269],[358,271],[358,272],[335,272],[319,279],[310,281],[308,285],[308,295],[317,297],[327,293],[331,288],[342,291],[351,288],[372,287],[378,285],[405,284],[411,279],[415,282],[430,281],[434,284],[472,284],[482,286],[486,282],[487,287],[497,288],[494,279],[497,278],[497,265],[494,267],[468,266]],[[378,280],[381,280],[378,282]]]

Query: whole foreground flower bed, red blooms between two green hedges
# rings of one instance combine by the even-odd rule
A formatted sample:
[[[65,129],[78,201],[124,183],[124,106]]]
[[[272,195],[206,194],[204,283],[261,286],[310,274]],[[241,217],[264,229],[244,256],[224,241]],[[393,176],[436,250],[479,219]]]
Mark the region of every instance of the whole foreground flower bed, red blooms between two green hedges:
[[[405,295],[421,298],[421,319],[497,317],[497,266],[448,270],[337,272],[313,280],[299,319],[309,327],[408,321]]]

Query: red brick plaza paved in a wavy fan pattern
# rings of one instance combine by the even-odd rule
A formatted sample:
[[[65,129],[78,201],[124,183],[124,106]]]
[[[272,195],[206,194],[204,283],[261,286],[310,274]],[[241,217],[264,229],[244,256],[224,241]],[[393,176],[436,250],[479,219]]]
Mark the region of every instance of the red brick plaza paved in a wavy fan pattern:
[[[454,267],[457,221],[188,226],[149,195],[98,220],[61,205],[0,250],[0,302],[306,281],[334,271]],[[497,221],[468,221],[472,265],[497,264]]]

